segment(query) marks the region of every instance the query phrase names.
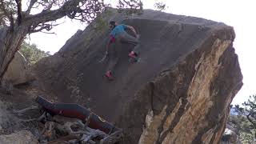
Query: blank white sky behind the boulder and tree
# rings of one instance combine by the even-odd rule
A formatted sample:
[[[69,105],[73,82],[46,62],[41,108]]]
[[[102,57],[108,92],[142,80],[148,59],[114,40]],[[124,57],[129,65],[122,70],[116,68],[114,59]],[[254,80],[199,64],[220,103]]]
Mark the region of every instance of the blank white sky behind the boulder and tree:
[[[114,3],[115,0],[109,0]],[[232,104],[241,104],[250,95],[256,94],[256,62],[254,34],[256,34],[255,0],[142,0],[144,9],[154,9],[154,2],[165,2],[167,13],[206,18],[216,22],[224,22],[233,26],[236,34],[234,48],[243,74],[242,89],[233,99]],[[52,31],[55,34],[36,33],[30,35],[30,43],[50,54],[57,52],[78,29],[84,30],[86,24],[70,21],[68,18],[58,20],[62,23]]]

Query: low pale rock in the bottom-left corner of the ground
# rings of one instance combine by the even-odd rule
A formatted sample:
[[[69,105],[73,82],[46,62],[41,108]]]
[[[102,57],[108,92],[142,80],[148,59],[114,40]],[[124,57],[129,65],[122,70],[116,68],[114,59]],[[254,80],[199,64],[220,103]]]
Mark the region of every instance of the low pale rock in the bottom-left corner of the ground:
[[[38,144],[38,140],[30,131],[21,130],[13,134],[0,135],[1,144]]]

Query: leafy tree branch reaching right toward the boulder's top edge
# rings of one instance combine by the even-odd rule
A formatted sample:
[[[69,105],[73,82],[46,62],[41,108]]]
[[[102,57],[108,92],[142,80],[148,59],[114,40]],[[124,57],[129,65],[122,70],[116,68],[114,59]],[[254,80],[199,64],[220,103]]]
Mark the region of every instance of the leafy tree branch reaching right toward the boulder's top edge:
[[[26,21],[27,26],[30,26],[29,33],[38,32],[38,30],[35,29],[41,23],[55,21],[66,15],[71,19],[91,22],[98,14],[105,10],[104,3],[98,0],[69,0],[57,10],[50,10],[52,4],[50,3],[48,7],[44,6],[46,9],[42,10],[41,13],[26,17],[24,21]],[[32,6],[32,4],[30,4],[30,6]],[[39,27],[40,29],[42,28],[42,26]]]

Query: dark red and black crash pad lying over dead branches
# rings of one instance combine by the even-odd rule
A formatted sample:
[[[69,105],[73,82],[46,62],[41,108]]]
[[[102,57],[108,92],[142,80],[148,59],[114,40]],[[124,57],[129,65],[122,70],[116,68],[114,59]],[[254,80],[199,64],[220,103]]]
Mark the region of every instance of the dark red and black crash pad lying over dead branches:
[[[88,126],[95,130],[102,130],[106,134],[112,134],[116,131],[122,131],[122,129],[114,126],[110,122],[106,122],[103,118],[99,117],[97,114],[94,114],[90,110],[87,110],[85,107],[80,106],[75,103],[53,103],[49,102],[45,98],[38,96],[36,102],[42,106],[42,110],[45,110],[51,115],[61,115],[68,118],[78,118],[82,122],[87,122],[88,117],[90,116]]]

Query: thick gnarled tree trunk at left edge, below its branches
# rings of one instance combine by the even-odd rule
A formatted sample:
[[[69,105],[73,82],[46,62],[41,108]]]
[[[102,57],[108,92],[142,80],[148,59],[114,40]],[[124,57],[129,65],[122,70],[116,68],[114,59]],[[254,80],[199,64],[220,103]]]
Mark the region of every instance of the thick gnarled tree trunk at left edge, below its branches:
[[[6,73],[10,62],[14,58],[14,54],[22,45],[26,34],[28,34],[27,26],[3,27],[0,30],[0,82]]]

